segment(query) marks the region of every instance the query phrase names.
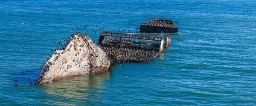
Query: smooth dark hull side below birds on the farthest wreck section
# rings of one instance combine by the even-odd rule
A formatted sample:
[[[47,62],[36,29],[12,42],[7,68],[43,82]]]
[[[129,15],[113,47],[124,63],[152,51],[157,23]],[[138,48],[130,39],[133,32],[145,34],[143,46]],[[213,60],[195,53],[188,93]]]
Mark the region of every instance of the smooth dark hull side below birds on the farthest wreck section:
[[[178,28],[161,27],[156,25],[141,25],[139,32],[141,33],[176,33]]]

